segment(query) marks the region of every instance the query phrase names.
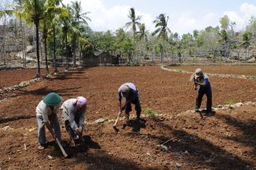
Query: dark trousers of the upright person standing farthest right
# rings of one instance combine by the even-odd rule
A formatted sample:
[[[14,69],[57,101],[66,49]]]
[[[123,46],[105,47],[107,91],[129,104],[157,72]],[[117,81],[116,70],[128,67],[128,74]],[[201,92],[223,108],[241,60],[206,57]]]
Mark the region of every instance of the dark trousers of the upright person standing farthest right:
[[[207,103],[206,103],[206,111],[212,111],[212,90],[211,89],[199,89],[198,96],[196,97],[195,102],[195,110],[198,110],[201,107],[202,103],[202,96],[206,94],[207,96]]]

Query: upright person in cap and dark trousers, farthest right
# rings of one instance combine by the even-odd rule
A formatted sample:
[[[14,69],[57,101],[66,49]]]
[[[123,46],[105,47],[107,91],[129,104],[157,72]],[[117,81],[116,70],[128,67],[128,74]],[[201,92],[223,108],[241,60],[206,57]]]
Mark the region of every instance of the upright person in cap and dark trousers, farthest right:
[[[206,74],[202,73],[201,68],[197,68],[195,70],[195,90],[198,89],[198,96],[196,97],[195,103],[195,111],[198,112],[199,108],[201,107],[202,103],[202,96],[206,94],[207,96],[207,103],[206,103],[206,112],[207,114],[212,113],[212,89],[210,86],[209,78]]]

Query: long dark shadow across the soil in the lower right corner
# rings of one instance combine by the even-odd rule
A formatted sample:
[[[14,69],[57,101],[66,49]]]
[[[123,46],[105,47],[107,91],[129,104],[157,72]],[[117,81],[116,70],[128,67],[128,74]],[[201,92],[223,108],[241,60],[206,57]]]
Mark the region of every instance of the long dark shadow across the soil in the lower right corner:
[[[207,139],[189,134],[182,129],[172,128],[163,121],[154,120],[154,129],[161,128],[161,136],[148,135],[147,140],[157,140],[158,145],[165,143],[169,148],[164,153],[183,157],[189,165],[194,168],[213,168],[213,169],[248,169],[253,168],[254,165],[250,161],[245,161],[235,154],[229,153],[221,146],[216,146]],[[152,128],[152,127],[151,127]],[[163,134],[164,133],[164,134]],[[248,134],[252,134],[249,132]],[[141,139],[143,134],[132,134],[133,137]],[[241,139],[247,139],[248,136],[240,136]],[[186,151],[187,150],[187,151]],[[250,158],[252,159],[252,157]]]

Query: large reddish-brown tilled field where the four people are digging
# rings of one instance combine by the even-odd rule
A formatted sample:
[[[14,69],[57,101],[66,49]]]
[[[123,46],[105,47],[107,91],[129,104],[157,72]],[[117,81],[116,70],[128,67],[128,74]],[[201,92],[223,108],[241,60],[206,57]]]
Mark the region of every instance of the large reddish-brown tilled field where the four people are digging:
[[[248,68],[250,70],[250,68]],[[23,74],[19,75],[24,77]],[[193,109],[196,91],[190,74],[163,71],[160,67],[92,67],[36,82],[0,96],[0,167],[2,169],[256,169],[255,105],[217,110],[211,117],[187,112]],[[15,78],[12,79],[15,81]],[[11,80],[10,80],[11,81]],[[64,99],[86,96],[87,121],[117,116],[117,89],[132,81],[139,88],[143,110],[150,107],[162,114],[132,121],[119,133],[111,123],[88,124],[85,143],[63,159],[54,143],[37,149],[35,107],[48,92]],[[213,107],[226,103],[256,101],[256,83],[236,78],[210,78]],[[10,82],[12,84],[12,82]],[[205,107],[206,99],[203,99]],[[134,111],[132,115],[134,115]],[[60,118],[60,114],[59,114]],[[9,129],[3,127],[9,125]],[[61,124],[62,138],[69,143]],[[52,141],[49,134],[47,139]],[[172,139],[165,146],[157,145]],[[24,148],[26,145],[26,149]],[[53,159],[49,159],[50,155]]]

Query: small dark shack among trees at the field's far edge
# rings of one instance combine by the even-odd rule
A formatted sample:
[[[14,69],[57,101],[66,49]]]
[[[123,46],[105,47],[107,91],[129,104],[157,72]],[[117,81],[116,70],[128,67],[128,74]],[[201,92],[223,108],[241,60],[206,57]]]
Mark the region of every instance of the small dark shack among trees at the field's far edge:
[[[114,56],[111,56],[107,52],[104,52],[102,50],[95,51],[93,55],[87,55],[83,57],[83,66],[97,66],[113,63]]]

